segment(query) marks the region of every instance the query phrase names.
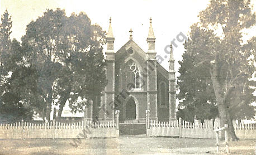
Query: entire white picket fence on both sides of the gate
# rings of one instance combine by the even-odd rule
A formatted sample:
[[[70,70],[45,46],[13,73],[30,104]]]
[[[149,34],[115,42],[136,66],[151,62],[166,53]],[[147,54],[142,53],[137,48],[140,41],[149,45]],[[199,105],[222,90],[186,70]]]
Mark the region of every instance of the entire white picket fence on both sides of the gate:
[[[78,138],[86,137],[119,137],[119,112],[116,112],[115,122],[92,123],[82,121],[78,123],[50,122],[36,124],[17,122],[13,124],[0,124],[0,139],[27,139],[27,138]],[[157,122],[149,120],[146,113],[146,135],[168,136],[183,138],[215,138],[214,128],[218,123],[209,120],[205,123],[189,123],[181,118],[171,122]],[[238,138],[256,138],[256,124],[236,124],[233,122]],[[221,134],[219,134],[221,138]]]

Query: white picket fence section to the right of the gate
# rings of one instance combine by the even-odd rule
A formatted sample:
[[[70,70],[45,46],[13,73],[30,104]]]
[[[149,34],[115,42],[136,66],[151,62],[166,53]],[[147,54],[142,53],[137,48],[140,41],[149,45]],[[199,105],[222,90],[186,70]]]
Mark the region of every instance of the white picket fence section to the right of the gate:
[[[147,136],[168,136],[182,138],[216,138],[214,129],[219,127],[219,122],[212,119],[205,123],[190,123],[182,120],[171,122],[157,122],[149,120],[149,112],[146,110],[146,135]],[[234,121],[235,122],[235,121]],[[240,139],[256,138],[256,124],[235,124],[236,136]],[[221,137],[219,134],[219,138]]]

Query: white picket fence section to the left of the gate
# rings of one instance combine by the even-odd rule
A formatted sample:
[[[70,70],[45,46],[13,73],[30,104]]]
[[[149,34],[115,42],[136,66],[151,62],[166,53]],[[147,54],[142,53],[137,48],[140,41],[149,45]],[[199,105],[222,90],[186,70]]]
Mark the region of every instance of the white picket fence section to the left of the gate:
[[[17,122],[0,124],[0,139],[30,139],[30,138],[79,138],[84,137],[119,137],[119,111],[116,119],[110,122],[93,123],[84,120],[77,123],[60,123],[54,120],[50,123],[34,124]]]

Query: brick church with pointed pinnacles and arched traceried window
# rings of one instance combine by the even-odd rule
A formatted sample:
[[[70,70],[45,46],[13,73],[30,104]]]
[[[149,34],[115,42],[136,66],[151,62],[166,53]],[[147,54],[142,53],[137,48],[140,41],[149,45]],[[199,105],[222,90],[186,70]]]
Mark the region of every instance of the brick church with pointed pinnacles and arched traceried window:
[[[84,117],[92,119],[97,115],[99,120],[113,120],[115,110],[120,110],[120,122],[126,119],[145,122],[145,110],[149,110],[152,120],[175,120],[176,79],[172,48],[167,71],[157,62],[151,18],[146,38],[148,51],[143,51],[132,40],[131,30],[130,40],[120,50],[114,51],[111,19],[106,41],[108,83],[98,97],[97,110],[87,106]]]

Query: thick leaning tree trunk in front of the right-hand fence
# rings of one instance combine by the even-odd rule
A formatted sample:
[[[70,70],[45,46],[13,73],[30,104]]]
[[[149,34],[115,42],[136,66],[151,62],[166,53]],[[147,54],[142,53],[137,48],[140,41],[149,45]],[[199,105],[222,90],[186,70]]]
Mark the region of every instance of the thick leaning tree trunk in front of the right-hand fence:
[[[218,80],[218,74],[217,74],[217,66],[214,66],[214,69],[211,71],[211,79],[212,79],[212,85],[214,87],[214,93],[215,93],[215,98],[217,101],[217,108],[219,110],[219,117],[220,117],[220,125],[221,127],[224,127],[224,124],[228,125],[227,128],[227,134],[229,137],[229,140],[231,141],[237,141],[238,138],[235,135],[235,130],[233,127],[233,122],[229,114],[229,109],[226,106],[225,103],[225,98],[224,98],[224,93],[221,88],[220,82]],[[221,132],[222,134],[224,132]],[[224,137],[224,136],[221,136]]]

